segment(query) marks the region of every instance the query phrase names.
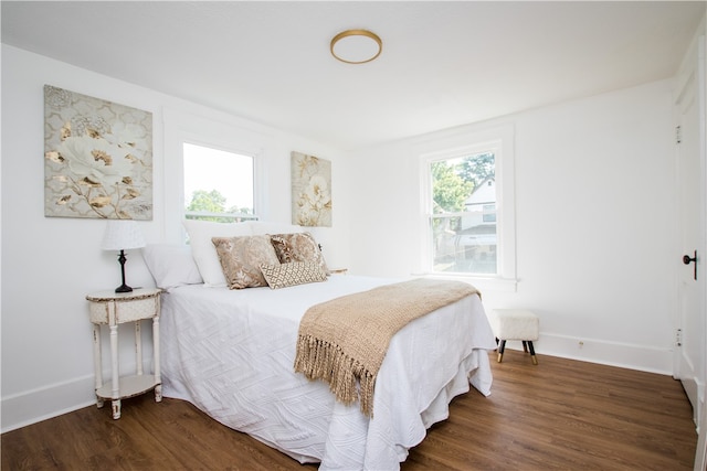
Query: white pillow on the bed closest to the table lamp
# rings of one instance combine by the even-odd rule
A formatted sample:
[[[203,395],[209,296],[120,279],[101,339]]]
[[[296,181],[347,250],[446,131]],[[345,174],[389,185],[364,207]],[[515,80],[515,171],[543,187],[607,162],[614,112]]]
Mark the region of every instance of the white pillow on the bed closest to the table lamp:
[[[143,258],[158,288],[169,291],[178,286],[203,282],[189,246],[148,244],[143,247]]]

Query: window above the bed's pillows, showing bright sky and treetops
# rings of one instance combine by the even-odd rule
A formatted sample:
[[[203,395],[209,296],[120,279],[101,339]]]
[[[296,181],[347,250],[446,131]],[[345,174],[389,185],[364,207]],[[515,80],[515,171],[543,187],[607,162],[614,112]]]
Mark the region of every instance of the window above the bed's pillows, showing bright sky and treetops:
[[[184,216],[189,220],[256,220],[253,157],[183,143]]]

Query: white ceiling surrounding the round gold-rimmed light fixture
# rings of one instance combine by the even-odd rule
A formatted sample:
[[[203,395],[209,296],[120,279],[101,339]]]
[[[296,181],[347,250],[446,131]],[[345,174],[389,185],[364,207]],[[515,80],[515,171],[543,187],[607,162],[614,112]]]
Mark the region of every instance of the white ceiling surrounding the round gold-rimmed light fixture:
[[[351,149],[674,76],[707,2],[2,1],[2,42]],[[345,64],[334,35],[382,54]],[[81,92],[81,90],[75,90]]]

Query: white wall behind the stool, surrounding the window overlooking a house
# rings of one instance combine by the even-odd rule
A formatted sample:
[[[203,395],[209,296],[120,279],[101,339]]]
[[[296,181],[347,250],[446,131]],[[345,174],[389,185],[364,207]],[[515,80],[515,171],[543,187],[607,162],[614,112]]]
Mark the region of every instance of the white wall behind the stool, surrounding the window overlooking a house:
[[[523,307],[539,314],[540,355],[672,372],[680,254],[671,85],[424,137],[429,142],[494,125],[515,127],[517,291],[482,291],[487,309]],[[421,250],[419,140],[348,156],[360,162],[354,180],[366,181],[351,221],[352,272],[397,277],[413,270],[411,255]]]

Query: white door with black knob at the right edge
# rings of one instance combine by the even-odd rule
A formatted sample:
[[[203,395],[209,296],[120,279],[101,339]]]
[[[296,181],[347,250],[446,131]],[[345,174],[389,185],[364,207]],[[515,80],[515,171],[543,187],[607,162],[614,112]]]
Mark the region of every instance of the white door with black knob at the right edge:
[[[707,376],[707,321],[705,295],[706,161],[705,161],[705,57],[704,38],[693,52],[690,66],[680,75],[676,98],[675,132],[677,159],[680,254],[678,270],[678,342],[675,349],[675,377],[679,378],[693,405],[693,418],[704,447],[705,378]],[[700,458],[701,454],[701,458]],[[699,463],[699,464],[698,464]],[[696,463],[704,467],[704,453],[697,450]]]

